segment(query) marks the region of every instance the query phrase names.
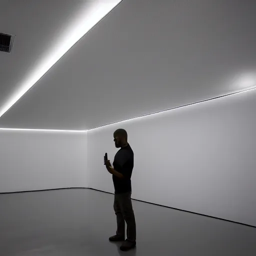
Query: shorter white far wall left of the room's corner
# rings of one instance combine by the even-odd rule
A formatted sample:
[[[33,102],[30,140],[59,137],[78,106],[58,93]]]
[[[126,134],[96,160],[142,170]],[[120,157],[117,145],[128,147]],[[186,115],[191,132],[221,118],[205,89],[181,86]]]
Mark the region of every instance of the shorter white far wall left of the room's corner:
[[[87,187],[87,133],[0,130],[0,192]]]

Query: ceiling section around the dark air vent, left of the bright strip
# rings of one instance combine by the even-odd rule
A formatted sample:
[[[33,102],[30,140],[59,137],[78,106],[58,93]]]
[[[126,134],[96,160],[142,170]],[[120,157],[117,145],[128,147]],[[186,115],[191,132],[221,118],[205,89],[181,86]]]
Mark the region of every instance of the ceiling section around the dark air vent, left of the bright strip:
[[[0,52],[0,106],[56,47],[81,5],[79,1],[1,0],[0,32],[15,37],[12,52]]]

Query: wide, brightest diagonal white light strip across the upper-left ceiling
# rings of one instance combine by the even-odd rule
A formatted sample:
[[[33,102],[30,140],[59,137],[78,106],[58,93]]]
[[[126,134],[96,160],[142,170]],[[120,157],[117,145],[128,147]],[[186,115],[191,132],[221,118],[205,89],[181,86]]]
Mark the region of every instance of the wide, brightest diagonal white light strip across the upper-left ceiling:
[[[121,0],[94,0],[90,6],[81,9],[75,22],[67,28],[67,32],[59,39],[47,57],[22,82],[19,90],[0,109],[0,117],[13,106],[84,34],[98,23]],[[55,47],[54,47],[55,46]]]

